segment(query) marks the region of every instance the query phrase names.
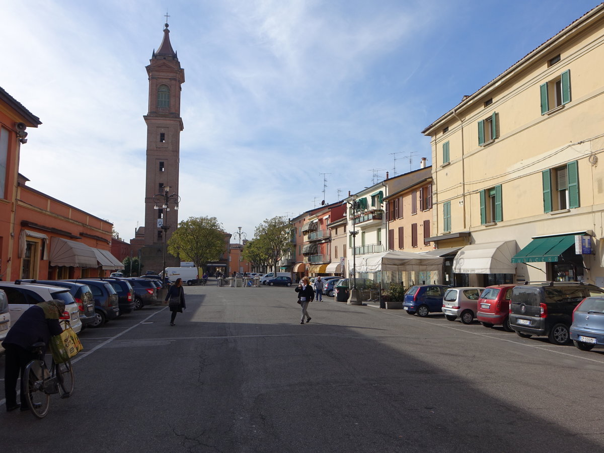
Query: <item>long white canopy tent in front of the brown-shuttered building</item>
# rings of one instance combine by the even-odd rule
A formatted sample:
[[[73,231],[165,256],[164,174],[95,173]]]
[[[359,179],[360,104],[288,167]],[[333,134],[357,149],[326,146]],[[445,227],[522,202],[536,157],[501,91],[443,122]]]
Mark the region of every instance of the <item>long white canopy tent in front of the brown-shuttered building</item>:
[[[386,252],[360,255],[356,257],[356,269],[353,272],[426,272],[440,271],[443,259],[439,256],[420,255],[419,253],[388,250]]]

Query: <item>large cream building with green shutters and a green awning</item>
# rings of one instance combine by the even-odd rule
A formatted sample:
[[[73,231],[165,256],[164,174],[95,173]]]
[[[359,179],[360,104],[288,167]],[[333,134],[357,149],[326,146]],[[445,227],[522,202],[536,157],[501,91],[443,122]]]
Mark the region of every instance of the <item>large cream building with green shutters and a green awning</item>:
[[[599,5],[423,130],[455,283],[604,286],[603,72]]]

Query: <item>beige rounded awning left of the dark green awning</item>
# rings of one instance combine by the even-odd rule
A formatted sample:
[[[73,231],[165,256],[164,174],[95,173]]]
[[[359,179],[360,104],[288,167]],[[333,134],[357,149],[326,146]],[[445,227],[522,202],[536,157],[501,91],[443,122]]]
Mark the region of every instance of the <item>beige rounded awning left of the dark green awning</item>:
[[[516,254],[516,241],[487,242],[466,245],[453,259],[455,274],[515,274],[512,257]]]

